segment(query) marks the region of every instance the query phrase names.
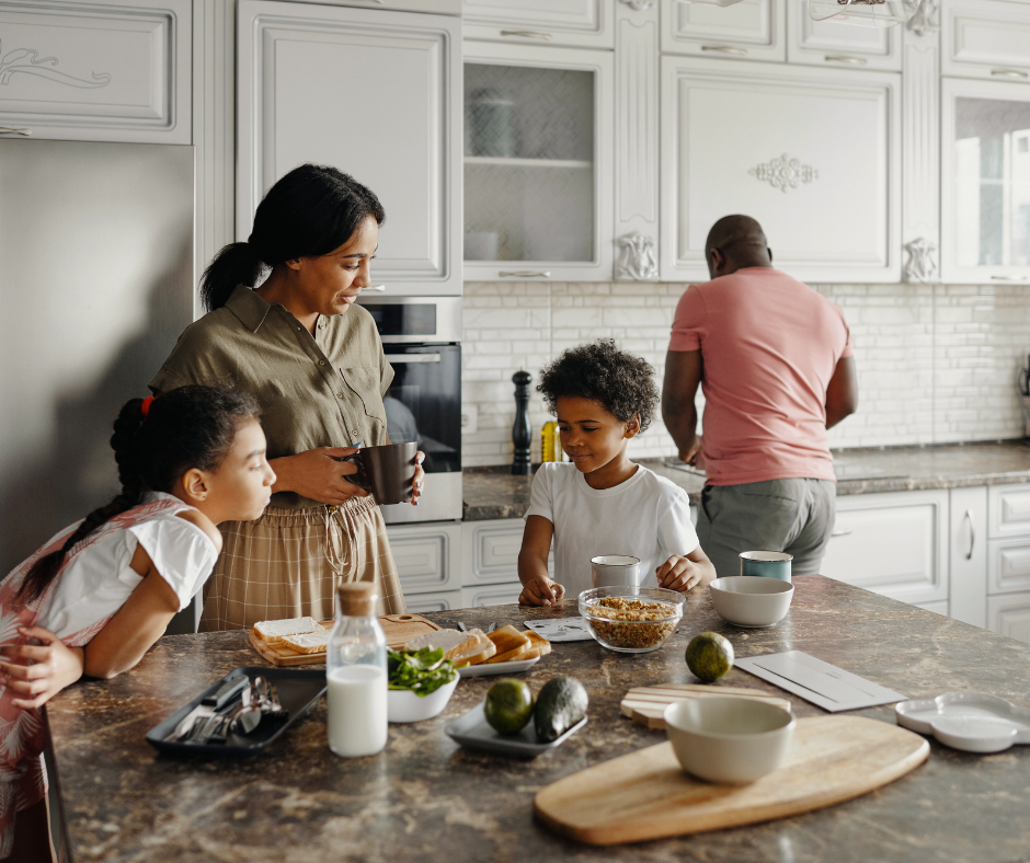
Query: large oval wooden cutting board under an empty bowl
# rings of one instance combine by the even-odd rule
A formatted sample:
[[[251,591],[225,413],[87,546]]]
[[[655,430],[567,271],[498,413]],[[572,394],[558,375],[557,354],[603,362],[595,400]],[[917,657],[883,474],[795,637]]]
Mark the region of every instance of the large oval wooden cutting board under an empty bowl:
[[[641,842],[787,818],[886,785],[930,747],[913,732],[862,716],[798,720],[783,764],[749,785],[714,785],[679,767],[673,745],[582,770],[537,793],[549,828],[595,845]]]

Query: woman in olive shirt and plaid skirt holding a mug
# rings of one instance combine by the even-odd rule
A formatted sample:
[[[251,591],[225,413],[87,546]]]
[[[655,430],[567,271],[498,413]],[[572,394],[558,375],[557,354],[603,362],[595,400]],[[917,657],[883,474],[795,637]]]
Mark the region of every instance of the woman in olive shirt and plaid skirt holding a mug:
[[[259,521],[221,526],[202,632],[331,618],[341,582],[375,584],[380,614],[404,611],[382,515],[350,482],[355,465],[341,461],[358,445],[390,442],[382,395],[393,369],[375,321],[354,303],[371,284],[385,218],[347,174],[290,171],[259,205],[249,240],[211,261],[201,285],[208,314],[150,381],[162,392],[228,379],[250,393],[278,476]],[[420,467],[412,503],[422,480]]]

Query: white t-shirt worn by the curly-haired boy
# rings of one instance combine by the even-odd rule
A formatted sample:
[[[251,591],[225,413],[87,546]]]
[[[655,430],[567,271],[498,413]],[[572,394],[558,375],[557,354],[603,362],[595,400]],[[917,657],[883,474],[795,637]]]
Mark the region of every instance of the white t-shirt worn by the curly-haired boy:
[[[642,464],[626,482],[603,490],[591,488],[575,464],[541,464],[533,477],[529,516],[554,526],[554,580],[566,598],[591,588],[591,557],[638,557],[641,584],[657,587],[654,571],[698,546],[687,493]]]

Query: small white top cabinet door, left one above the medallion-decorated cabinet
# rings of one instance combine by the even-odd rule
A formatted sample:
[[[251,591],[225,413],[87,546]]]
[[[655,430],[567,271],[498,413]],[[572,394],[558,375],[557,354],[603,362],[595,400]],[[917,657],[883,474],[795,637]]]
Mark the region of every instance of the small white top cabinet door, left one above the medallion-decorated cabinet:
[[[799,0],[741,0],[728,7],[663,2],[662,51],[782,62],[785,10],[793,2]]]

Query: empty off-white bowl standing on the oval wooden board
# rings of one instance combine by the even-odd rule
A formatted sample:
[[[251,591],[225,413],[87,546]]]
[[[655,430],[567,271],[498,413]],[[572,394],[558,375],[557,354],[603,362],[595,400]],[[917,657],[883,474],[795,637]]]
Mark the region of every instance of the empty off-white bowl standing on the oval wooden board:
[[[744,785],[782,763],[794,717],[763,701],[712,695],[674,701],[665,709],[665,729],[688,773],[720,785]]]

